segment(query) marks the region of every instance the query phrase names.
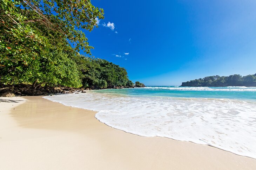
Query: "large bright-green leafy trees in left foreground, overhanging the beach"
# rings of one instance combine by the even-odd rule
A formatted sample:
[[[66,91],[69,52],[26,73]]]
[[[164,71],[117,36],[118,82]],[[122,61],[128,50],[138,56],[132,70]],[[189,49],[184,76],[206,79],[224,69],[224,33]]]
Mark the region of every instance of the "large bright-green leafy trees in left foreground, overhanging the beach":
[[[63,58],[64,54],[77,55],[79,50],[90,54],[93,47],[81,29],[92,31],[97,27],[96,18],[103,19],[103,14],[103,9],[89,0],[1,0],[0,83],[59,82],[56,80],[63,74],[51,72],[54,66],[59,64],[67,74],[67,69],[60,67],[60,59],[65,64],[72,61]],[[51,57],[53,53],[57,56]],[[76,65],[69,67],[73,67],[68,68],[71,71]],[[63,79],[61,84],[79,83]]]

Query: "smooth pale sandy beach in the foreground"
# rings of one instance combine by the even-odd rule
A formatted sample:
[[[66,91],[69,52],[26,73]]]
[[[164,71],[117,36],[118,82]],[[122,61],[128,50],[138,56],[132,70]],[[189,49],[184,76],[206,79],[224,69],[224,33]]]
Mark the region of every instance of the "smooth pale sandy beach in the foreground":
[[[253,158],[126,133],[98,121],[94,111],[40,96],[0,99],[0,169],[256,168]]]

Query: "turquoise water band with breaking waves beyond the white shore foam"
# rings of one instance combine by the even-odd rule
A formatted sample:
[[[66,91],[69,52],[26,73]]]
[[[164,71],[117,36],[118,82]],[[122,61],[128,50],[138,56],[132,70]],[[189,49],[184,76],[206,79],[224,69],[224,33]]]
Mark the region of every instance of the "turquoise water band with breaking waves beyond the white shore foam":
[[[95,93],[108,93],[144,97],[228,98],[256,100],[256,87],[177,87],[149,86],[146,88],[105,89]]]

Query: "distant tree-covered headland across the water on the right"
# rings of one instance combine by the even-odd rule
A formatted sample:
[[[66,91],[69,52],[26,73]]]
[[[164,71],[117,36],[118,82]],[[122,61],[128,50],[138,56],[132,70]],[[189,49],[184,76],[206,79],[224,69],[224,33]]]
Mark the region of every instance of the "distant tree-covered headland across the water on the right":
[[[234,74],[230,76],[209,76],[203,79],[196,79],[187,82],[183,82],[181,86],[190,87],[227,87],[227,86],[256,86],[256,74],[241,76]]]

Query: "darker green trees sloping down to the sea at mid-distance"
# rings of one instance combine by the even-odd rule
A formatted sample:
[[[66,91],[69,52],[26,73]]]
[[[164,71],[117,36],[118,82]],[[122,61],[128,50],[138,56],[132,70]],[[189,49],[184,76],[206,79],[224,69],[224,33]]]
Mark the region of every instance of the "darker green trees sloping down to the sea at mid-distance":
[[[126,69],[99,58],[73,56],[79,70],[83,87],[112,88],[115,86],[133,87]]]

